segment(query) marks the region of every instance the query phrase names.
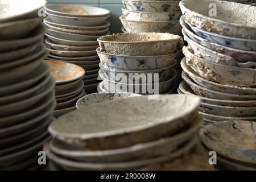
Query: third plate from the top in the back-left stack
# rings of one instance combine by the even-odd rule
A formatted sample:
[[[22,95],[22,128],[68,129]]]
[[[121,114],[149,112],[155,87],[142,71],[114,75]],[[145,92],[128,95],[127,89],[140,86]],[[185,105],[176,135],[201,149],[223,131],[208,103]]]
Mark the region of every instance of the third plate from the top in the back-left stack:
[[[94,35],[94,36],[95,35],[104,35],[104,34],[107,34],[107,32],[109,30],[109,28],[105,28],[103,30],[76,30],[76,29],[55,27],[46,22],[44,22],[44,24],[46,24],[47,28],[49,28],[51,30],[70,33],[70,34],[79,34],[79,35],[91,35],[91,36],[92,35]]]

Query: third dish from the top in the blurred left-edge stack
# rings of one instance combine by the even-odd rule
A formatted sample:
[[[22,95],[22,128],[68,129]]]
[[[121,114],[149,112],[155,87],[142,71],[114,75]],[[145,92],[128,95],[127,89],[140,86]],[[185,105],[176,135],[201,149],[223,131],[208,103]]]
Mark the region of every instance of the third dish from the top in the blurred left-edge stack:
[[[2,40],[0,41],[0,52],[13,51],[31,44],[43,42],[43,36],[46,33],[46,27],[40,23],[30,34],[23,39]]]

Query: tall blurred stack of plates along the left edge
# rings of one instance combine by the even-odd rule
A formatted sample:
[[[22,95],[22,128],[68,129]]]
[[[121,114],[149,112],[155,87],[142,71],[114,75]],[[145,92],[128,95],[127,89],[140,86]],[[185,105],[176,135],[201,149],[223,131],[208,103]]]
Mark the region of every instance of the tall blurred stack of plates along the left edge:
[[[46,28],[38,10],[46,1],[1,1],[0,170],[36,169],[49,139],[55,81],[43,59]]]

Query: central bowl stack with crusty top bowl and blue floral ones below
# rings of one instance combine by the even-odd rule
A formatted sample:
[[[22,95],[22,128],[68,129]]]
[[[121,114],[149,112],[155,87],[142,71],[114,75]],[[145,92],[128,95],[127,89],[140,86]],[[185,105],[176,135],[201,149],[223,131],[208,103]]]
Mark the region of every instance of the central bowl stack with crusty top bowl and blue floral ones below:
[[[177,72],[177,48],[183,39],[168,33],[130,33],[102,36],[101,92],[172,93]],[[158,80],[154,80],[158,76]],[[141,79],[140,79],[141,78]]]

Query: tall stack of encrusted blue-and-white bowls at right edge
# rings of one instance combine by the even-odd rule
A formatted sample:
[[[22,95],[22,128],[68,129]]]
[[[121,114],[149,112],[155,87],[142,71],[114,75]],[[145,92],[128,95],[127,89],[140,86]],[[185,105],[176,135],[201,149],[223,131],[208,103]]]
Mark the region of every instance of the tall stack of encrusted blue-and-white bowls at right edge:
[[[222,16],[208,17],[209,2]],[[179,92],[203,97],[200,111],[206,122],[256,121],[256,7],[214,0],[184,0],[180,7],[188,47],[183,48]]]

